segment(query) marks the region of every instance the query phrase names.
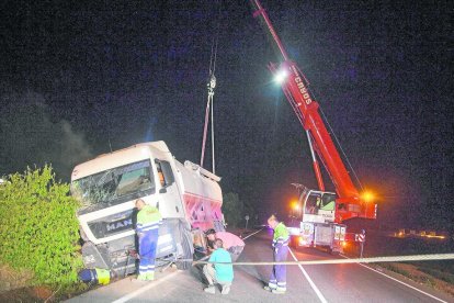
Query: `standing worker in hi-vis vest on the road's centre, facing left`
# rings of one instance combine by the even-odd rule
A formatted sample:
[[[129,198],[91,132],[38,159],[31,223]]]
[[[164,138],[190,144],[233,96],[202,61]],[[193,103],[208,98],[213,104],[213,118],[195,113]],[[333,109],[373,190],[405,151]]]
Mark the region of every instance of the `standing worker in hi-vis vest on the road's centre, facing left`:
[[[274,229],[272,243],[274,262],[286,261],[290,240],[287,227],[284,225],[284,223],[279,222],[275,215],[271,215],[268,218],[268,225]],[[287,290],[286,274],[287,272],[285,265],[274,265],[273,271],[271,272],[270,282],[264,287],[264,289],[273,293],[285,293]]]

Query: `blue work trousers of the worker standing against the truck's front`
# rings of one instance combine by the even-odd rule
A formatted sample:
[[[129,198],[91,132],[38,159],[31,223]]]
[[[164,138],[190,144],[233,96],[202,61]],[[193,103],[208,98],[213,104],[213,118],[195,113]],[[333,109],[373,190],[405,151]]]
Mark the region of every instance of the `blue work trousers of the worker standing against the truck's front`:
[[[139,274],[155,272],[156,246],[158,244],[159,228],[146,231],[139,236]]]

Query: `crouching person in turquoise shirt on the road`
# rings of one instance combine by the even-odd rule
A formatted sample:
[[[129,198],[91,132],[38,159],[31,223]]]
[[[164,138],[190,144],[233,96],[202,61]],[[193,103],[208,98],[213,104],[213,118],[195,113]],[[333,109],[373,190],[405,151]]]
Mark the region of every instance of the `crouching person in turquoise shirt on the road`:
[[[215,239],[214,251],[209,257],[209,262],[231,262],[230,254],[223,248],[223,240]],[[208,281],[208,287],[204,289],[207,293],[216,293],[215,284],[220,285],[220,293],[227,294],[230,291],[231,282],[234,281],[234,266],[232,265],[205,265],[203,273]]]

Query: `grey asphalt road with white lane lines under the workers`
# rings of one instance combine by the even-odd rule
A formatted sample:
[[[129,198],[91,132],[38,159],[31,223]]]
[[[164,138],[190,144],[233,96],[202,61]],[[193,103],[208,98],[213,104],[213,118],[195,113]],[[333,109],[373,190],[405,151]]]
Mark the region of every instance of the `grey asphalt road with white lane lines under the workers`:
[[[238,261],[271,261],[271,232],[261,231],[246,239]],[[324,260],[332,258],[316,249],[300,249],[288,260]],[[341,257],[339,257],[341,258]],[[287,293],[272,294],[263,290],[270,266],[235,267],[235,281],[227,295],[203,292],[196,268],[189,271],[168,269],[152,282],[116,281],[69,300],[78,302],[454,302],[454,298],[363,265],[288,266]],[[391,274],[391,273],[390,273]]]

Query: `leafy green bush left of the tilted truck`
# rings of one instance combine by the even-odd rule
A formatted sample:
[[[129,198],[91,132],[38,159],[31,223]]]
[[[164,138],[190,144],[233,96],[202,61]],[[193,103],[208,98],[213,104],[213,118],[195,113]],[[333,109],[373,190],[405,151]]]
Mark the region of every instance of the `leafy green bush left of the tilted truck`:
[[[78,202],[68,192],[49,166],[11,175],[0,184],[0,262],[31,270],[34,284],[77,281]]]

